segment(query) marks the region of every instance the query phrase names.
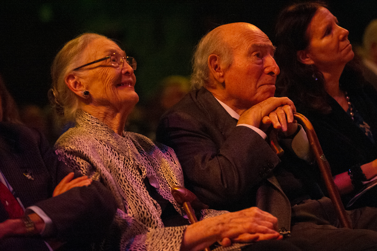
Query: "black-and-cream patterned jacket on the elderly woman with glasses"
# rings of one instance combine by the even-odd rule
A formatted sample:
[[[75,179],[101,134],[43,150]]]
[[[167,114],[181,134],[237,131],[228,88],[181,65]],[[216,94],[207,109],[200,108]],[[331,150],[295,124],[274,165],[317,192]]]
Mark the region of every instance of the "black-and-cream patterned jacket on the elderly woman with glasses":
[[[174,151],[133,132],[116,134],[86,112],[77,113],[76,127],[55,143],[56,153],[68,166],[100,180],[116,199],[116,222],[122,231],[121,250],[179,250],[186,226],[164,227],[161,207],[149,195],[144,180],[154,180],[157,192],[180,214],[170,189],[184,186]],[[157,184],[155,184],[157,183]],[[202,210],[202,219],[226,211]],[[217,249],[240,250],[240,246]]]

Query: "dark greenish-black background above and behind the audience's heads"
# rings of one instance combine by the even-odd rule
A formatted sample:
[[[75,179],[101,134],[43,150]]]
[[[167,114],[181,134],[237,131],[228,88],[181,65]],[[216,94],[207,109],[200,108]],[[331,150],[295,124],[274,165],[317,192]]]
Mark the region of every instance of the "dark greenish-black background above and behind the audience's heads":
[[[199,39],[225,23],[248,22],[273,40],[279,11],[293,1],[0,0],[0,74],[19,105],[48,104],[50,66],[64,43],[83,32],[113,38],[136,58],[140,102],[162,78],[189,76]],[[377,18],[377,1],[327,1],[340,26],[360,45]]]

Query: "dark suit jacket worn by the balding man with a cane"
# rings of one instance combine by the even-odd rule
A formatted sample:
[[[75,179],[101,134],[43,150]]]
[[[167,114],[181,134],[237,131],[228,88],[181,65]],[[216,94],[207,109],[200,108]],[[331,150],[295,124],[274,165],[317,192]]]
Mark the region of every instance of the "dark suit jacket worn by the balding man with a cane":
[[[273,175],[279,157],[259,134],[236,124],[202,88],[162,116],[157,141],[174,149],[185,186],[210,208],[235,211],[258,206],[278,217],[280,227],[289,229],[290,201]],[[292,177],[279,170],[284,177]]]

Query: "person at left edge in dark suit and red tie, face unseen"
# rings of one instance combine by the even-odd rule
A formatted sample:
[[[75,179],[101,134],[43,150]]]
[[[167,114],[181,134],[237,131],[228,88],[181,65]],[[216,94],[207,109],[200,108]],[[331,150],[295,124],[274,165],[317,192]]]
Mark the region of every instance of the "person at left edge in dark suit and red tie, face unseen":
[[[0,82],[0,250],[85,250],[103,239],[115,202],[101,183],[72,180],[39,132],[14,123],[17,114]]]

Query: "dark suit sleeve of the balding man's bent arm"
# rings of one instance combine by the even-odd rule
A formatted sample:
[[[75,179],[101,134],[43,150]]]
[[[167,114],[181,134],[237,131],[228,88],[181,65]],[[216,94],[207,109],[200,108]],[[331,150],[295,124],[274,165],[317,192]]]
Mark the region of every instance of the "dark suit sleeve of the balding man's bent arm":
[[[162,117],[157,141],[174,149],[185,177],[185,186],[210,208],[244,201],[251,189],[268,177],[279,158],[257,132],[233,126],[223,135],[208,119],[183,112]],[[250,203],[249,203],[250,205]],[[238,209],[238,208],[236,208]]]

